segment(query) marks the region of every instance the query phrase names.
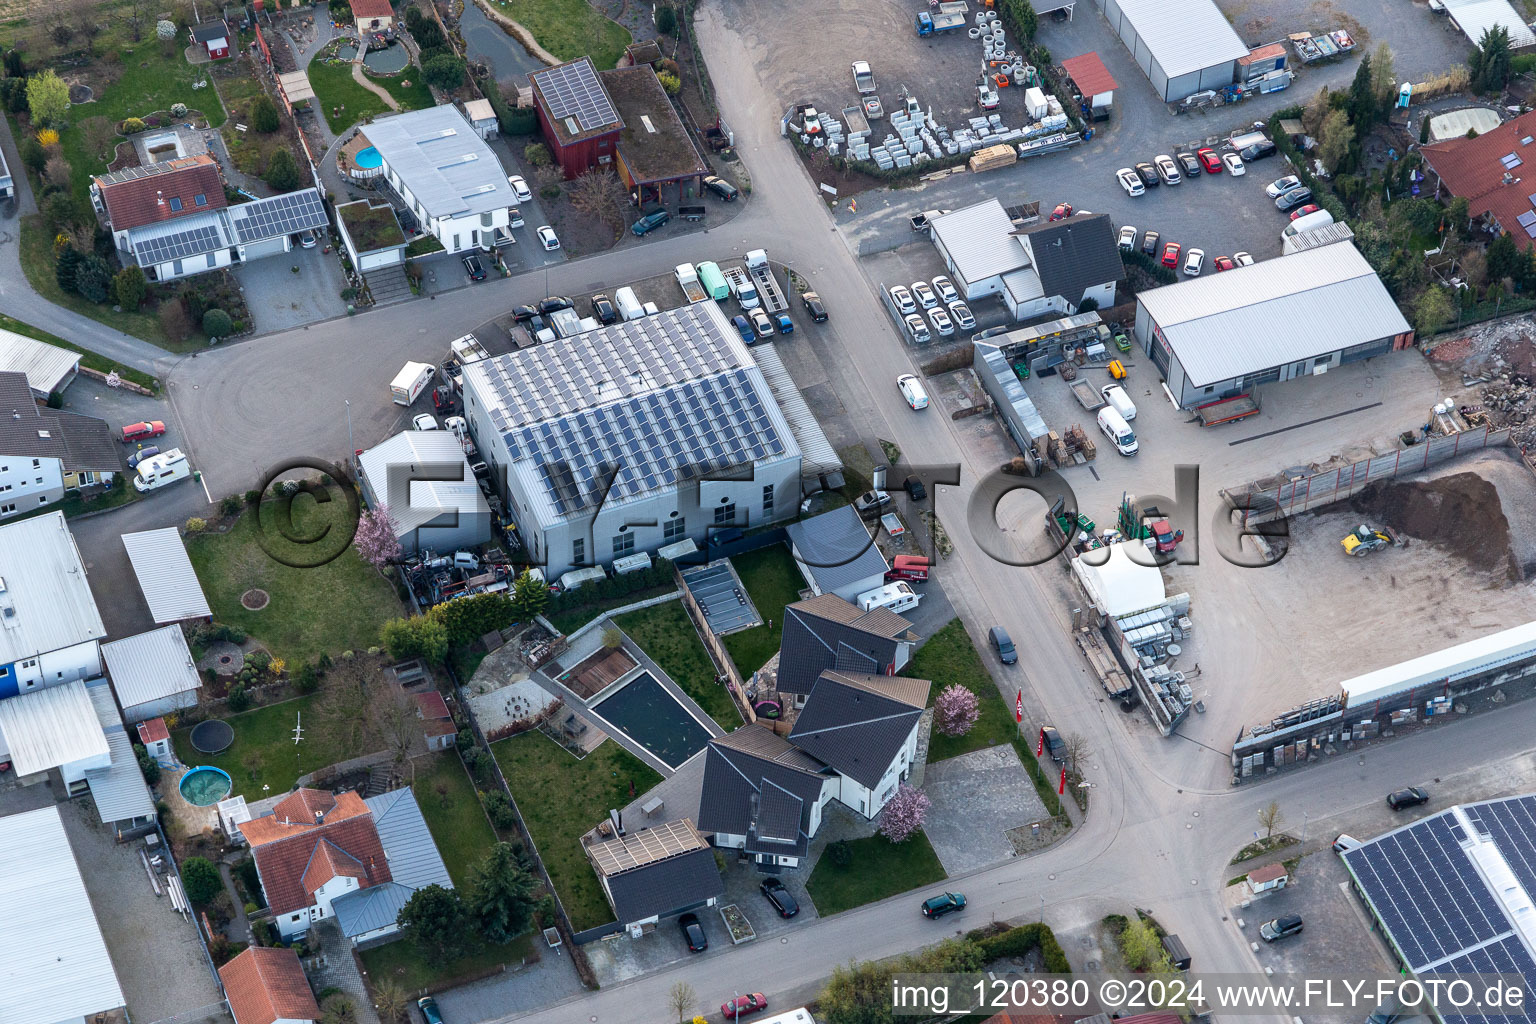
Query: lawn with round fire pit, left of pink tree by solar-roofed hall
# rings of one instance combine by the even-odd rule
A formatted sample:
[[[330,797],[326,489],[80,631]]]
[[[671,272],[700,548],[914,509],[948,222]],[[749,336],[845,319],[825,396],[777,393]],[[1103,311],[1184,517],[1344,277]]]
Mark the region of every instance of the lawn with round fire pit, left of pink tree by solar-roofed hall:
[[[273,522],[280,502],[263,502],[264,536],[284,557],[310,557],[309,545],[292,545]],[[327,517],[344,525],[347,504],[316,504],[309,494],[293,499],[298,536],[315,536]],[[318,547],[318,545],[315,545]],[[257,513],[247,508],[229,533],[187,537],[192,568],[207,594],[214,617],[261,640],[273,657],[289,665],[318,654],[367,649],[378,645],[379,626],[401,614],[395,588],[347,547],[339,557],[316,567],[295,568],[272,559],[257,537]],[[246,611],[240,596],[260,586],[270,602],[261,611]],[[366,751],[362,751],[366,752]]]

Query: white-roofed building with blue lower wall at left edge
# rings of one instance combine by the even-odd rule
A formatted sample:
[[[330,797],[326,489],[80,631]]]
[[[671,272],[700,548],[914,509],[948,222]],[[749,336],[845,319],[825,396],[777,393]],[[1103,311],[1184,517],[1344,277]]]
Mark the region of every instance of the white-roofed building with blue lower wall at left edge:
[[[101,674],[106,626],[61,511],[0,525],[0,702]]]

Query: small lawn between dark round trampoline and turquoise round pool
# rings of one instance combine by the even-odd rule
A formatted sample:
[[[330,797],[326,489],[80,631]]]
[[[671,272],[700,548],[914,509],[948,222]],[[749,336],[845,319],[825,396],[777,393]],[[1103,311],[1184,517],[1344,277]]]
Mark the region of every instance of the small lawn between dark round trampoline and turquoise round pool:
[[[184,765],[223,768],[233,781],[232,795],[243,794],[246,800],[263,800],[287,792],[300,775],[370,754],[372,751],[344,749],[319,728],[319,718],[313,714],[318,699],[319,694],[310,694],[226,718],[235,729],[235,742],[221,754],[198,754],[192,748],[192,729],[177,729],[170,735],[177,757]],[[295,746],[293,723],[300,717],[304,720],[304,742]],[[261,763],[253,766],[255,771],[246,765],[246,757],[250,754],[261,757]]]

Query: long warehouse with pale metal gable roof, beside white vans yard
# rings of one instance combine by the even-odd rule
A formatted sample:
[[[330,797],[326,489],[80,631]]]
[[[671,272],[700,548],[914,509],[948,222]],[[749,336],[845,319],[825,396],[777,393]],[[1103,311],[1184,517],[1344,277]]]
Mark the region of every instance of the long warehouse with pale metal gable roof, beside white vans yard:
[[[1413,344],[1353,243],[1141,292],[1137,342],[1180,408]]]

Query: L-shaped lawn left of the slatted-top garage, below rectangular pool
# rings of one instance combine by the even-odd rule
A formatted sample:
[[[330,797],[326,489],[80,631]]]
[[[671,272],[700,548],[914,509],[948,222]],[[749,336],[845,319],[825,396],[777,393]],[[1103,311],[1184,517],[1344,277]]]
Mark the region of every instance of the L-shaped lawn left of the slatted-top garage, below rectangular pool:
[[[662,777],[613,740],[582,760],[538,731],[498,740],[490,749],[571,927],[582,932],[611,921],[613,909],[581,849],[581,837],[607,820],[608,808],[630,803],[631,783],[642,794]]]

